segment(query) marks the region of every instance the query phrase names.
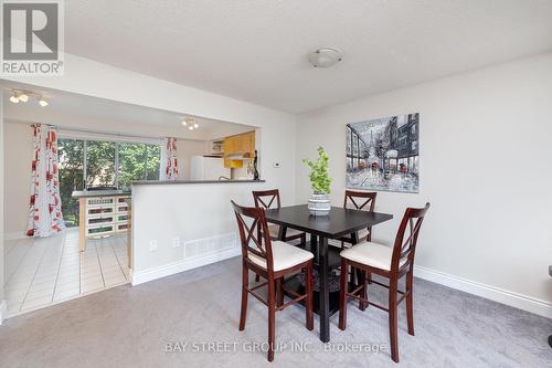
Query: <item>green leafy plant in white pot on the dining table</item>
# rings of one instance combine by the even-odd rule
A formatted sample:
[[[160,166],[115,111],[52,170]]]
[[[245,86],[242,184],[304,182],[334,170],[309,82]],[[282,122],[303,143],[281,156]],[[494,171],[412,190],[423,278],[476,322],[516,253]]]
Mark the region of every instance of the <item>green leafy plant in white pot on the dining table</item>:
[[[314,215],[327,215],[330,212],[330,193],[331,178],[328,172],[330,157],[322,147],[318,147],[318,159],[311,161],[304,159],[302,164],[310,169],[309,179],[312,187],[312,196],[308,202],[308,209]]]

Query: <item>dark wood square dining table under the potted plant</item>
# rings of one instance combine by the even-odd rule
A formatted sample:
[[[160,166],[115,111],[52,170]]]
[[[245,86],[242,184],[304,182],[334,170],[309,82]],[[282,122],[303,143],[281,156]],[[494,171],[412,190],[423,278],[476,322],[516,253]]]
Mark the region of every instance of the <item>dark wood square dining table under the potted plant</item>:
[[[315,312],[320,317],[320,340],[330,340],[330,316],[339,309],[338,301],[330,305],[328,276],[339,266],[340,248],[328,245],[329,239],[340,239],[357,234],[359,230],[389,221],[392,214],[359,211],[332,207],[328,215],[311,215],[306,204],[282,207],[266,210],[266,221],[280,225],[279,239],[285,239],[287,228],[310,234],[310,242],[300,245],[315,254],[315,269],[318,270],[319,293],[315,295]],[[358,239],[353,235],[353,242]],[[293,281],[291,281],[293,282]],[[333,293],[338,294],[338,293]]]

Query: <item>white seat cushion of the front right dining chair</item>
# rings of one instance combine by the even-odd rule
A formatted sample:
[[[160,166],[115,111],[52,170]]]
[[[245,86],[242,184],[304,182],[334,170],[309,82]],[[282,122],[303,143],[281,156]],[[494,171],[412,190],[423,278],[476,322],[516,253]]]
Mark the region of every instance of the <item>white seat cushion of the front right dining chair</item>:
[[[393,249],[386,245],[363,242],[346,249],[339,253],[342,257],[362,263],[371,267],[390,271],[391,257],[393,256]],[[401,260],[399,267],[406,263],[407,259]]]

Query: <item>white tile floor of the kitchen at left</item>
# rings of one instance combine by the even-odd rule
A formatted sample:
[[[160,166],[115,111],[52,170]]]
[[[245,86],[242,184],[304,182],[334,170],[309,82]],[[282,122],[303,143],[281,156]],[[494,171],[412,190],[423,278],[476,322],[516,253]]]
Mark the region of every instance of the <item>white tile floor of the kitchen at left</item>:
[[[127,235],[89,239],[78,252],[78,231],[6,241],[8,317],[128,283]]]

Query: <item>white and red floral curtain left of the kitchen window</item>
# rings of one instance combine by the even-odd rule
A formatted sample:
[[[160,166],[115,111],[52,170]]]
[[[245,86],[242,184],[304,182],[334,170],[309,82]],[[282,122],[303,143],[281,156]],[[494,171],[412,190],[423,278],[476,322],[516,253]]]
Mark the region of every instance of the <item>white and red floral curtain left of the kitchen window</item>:
[[[57,133],[33,125],[33,160],[28,236],[50,236],[65,229],[60,200]]]

